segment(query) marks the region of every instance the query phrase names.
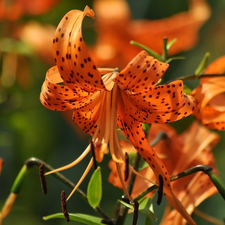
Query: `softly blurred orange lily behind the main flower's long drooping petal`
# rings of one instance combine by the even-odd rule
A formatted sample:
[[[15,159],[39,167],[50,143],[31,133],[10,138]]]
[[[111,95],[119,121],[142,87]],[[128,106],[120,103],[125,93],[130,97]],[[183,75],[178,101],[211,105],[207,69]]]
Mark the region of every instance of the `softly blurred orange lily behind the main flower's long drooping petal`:
[[[149,132],[149,140],[152,141],[160,132],[165,132],[167,138],[160,140],[155,145],[154,150],[167,167],[169,175],[175,175],[192,166],[202,164],[210,166],[215,173],[218,173],[215,167],[213,154],[210,152],[219,141],[218,134],[198,125],[196,122],[180,135],[168,125],[152,124]],[[128,142],[121,141],[120,144],[123,152],[129,154],[135,151]],[[112,160],[109,162],[109,167],[111,169],[109,182],[116,187],[122,188]],[[124,166],[121,165],[121,167],[124,170]],[[149,179],[154,177],[149,167],[139,172]],[[218,192],[209,177],[203,172],[198,172],[174,181],[171,185],[174,194],[182,202],[189,214],[191,214],[201,202]],[[146,180],[136,177],[132,196],[137,196],[150,186],[151,184]],[[154,193],[149,193],[148,196],[152,197],[153,194]],[[160,224],[186,224],[183,217],[180,216],[176,210],[165,213],[164,220]]]

